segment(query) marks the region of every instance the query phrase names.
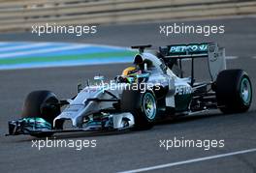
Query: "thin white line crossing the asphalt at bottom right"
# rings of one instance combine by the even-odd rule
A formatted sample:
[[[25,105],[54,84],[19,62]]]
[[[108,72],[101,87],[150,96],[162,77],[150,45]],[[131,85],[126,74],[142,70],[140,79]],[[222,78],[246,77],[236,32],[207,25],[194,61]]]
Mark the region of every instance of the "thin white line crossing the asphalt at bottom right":
[[[122,171],[119,173],[144,172],[144,171],[150,171],[150,170],[155,170],[155,169],[162,169],[162,168],[166,168],[166,167],[173,167],[173,166],[181,165],[181,164],[188,164],[188,163],[192,163],[192,162],[205,161],[208,159],[226,158],[226,157],[231,157],[231,156],[241,155],[241,154],[246,154],[246,153],[252,153],[252,152],[256,152],[256,148],[249,149],[249,150],[242,150],[242,151],[238,151],[238,152],[227,153],[227,154],[214,155],[214,156],[205,157],[205,158],[187,159],[184,161],[177,161],[177,162],[171,162],[171,163],[167,163],[167,164],[160,164],[160,165],[156,165],[156,166],[144,167],[144,168],[140,168],[140,169]]]

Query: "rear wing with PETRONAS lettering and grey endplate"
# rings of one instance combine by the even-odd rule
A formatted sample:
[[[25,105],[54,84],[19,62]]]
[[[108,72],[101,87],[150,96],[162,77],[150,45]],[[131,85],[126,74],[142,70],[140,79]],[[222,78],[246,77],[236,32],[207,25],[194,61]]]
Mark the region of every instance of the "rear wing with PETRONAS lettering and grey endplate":
[[[225,48],[217,43],[189,43],[173,44],[159,47],[160,53],[165,60],[192,59],[192,75],[194,75],[194,59],[208,58],[208,71],[211,80],[215,81],[217,74],[226,69]]]

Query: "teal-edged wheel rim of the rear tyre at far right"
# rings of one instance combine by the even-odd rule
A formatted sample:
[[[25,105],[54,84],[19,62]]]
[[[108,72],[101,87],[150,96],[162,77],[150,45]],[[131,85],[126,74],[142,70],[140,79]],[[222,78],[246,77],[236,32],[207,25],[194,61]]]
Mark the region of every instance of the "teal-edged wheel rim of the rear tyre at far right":
[[[251,100],[251,85],[247,78],[243,78],[240,83],[240,98],[244,104],[249,104]]]

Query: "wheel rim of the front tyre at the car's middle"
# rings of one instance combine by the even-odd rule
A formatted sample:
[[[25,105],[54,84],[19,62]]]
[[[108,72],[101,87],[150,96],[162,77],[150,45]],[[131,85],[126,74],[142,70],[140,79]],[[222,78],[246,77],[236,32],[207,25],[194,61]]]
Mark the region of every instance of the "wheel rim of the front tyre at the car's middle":
[[[146,93],[144,95],[143,107],[145,116],[148,119],[153,120],[156,114],[156,102],[152,94]]]

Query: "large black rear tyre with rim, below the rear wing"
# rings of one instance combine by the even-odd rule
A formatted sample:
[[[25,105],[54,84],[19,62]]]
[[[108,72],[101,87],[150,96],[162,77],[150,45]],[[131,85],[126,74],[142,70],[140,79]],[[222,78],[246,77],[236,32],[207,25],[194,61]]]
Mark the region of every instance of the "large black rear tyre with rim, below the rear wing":
[[[252,86],[248,74],[242,70],[219,72],[216,98],[223,113],[246,112],[252,101]]]

